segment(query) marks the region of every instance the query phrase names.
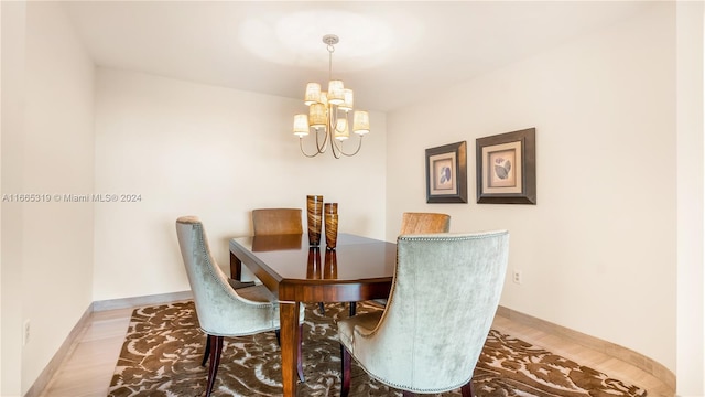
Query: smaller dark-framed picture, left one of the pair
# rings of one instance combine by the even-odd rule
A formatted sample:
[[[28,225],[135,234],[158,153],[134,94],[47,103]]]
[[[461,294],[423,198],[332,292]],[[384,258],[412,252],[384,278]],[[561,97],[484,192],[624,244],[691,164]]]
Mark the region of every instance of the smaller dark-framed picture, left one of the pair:
[[[426,203],[467,203],[467,141],[426,149]]]

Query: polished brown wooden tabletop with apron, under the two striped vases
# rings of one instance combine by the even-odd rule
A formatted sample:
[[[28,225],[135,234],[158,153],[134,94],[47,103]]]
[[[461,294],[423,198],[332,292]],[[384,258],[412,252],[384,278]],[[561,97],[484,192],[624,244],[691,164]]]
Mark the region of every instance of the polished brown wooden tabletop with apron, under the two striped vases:
[[[335,250],[326,249],[325,243],[310,247],[306,234],[296,234],[232,238],[230,253],[280,300],[311,302],[356,301],[370,299],[370,294],[384,298],[397,260],[394,243],[345,233],[338,235]],[[345,288],[345,285],[357,288]],[[328,289],[338,286],[338,290],[330,296],[316,291],[316,286]],[[360,297],[354,292],[366,287],[380,291],[368,290]],[[299,293],[289,296],[291,288]],[[345,293],[346,289],[350,292]],[[308,293],[302,297],[304,290]]]

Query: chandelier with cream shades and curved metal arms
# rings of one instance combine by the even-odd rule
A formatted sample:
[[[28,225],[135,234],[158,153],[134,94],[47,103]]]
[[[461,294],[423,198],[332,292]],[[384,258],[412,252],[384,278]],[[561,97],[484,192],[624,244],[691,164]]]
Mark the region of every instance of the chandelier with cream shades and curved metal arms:
[[[343,86],[343,81],[333,79],[334,45],[339,42],[335,34],[326,34],[323,42],[328,50],[328,90],[322,92],[321,84],[306,84],[304,104],[308,106],[308,115],[294,116],[294,135],[299,137],[299,148],[308,158],[325,153],[330,147],[333,157],[351,157],[362,147],[362,137],[370,131],[370,117],[367,111],[352,111],[352,90]],[[350,138],[350,112],[352,112],[352,132],[358,136],[357,149],[344,151],[343,142]],[[312,154],[304,151],[304,137],[313,130],[316,136],[316,151]]]

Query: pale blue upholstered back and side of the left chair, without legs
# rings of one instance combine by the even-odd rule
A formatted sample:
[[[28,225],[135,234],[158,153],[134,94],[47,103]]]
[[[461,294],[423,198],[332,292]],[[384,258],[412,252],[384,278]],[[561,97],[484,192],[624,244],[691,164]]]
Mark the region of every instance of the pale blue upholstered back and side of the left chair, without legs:
[[[228,277],[210,254],[203,223],[196,216],[176,219],[176,236],[188,283],[194,294],[200,328],[210,335],[247,335],[262,328],[278,326],[278,309],[269,302],[258,303],[240,297],[228,285]],[[251,310],[252,305],[259,307]],[[262,325],[263,310],[272,319]],[[254,313],[259,311],[260,313]]]

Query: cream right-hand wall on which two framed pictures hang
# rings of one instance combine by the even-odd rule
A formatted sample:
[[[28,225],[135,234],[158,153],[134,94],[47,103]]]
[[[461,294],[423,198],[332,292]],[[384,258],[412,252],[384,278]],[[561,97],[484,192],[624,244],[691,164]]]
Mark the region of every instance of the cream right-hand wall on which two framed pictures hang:
[[[388,115],[387,236],[401,210],[507,228],[501,304],[675,369],[672,4]],[[477,204],[475,139],[536,128],[538,205]],[[424,149],[468,142],[468,204],[425,204]],[[408,160],[408,159],[411,159]]]

